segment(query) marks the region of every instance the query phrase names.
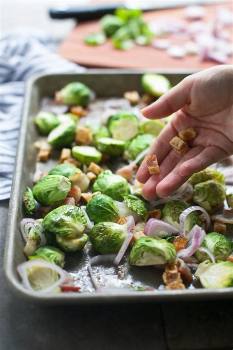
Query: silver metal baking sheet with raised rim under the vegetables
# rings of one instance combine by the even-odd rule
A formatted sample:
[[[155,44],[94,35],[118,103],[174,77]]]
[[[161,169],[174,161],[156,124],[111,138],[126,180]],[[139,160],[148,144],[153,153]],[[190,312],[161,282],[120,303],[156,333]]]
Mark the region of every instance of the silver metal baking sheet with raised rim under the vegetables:
[[[80,293],[43,294],[26,290],[19,279],[16,266],[26,260],[23,253],[24,242],[19,231],[19,222],[23,218],[24,210],[22,196],[27,186],[33,186],[33,176],[36,168],[50,169],[58,161],[58,152],[53,152],[48,163],[37,163],[37,150],[34,142],[39,136],[34,125],[34,116],[41,109],[53,110],[55,107],[52,98],[55,91],[60,90],[71,81],[81,81],[92,89],[97,102],[92,105],[92,112],[88,119],[98,119],[101,114],[104,100],[107,98],[122,98],[125,91],[137,90],[142,92],[142,71],[100,70],[90,69],[85,73],[47,74],[37,75],[27,84],[24,111],[18,142],[18,152],[15,163],[15,173],[9,205],[7,238],[4,256],[4,270],[9,286],[17,293],[30,301],[47,304],[78,304],[78,303],[115,303],[130,301],[174,301],[178,299],[215,299],[233,295],[233,288],[208,290],[201,288],[199,282],[187,284],[185,290],[164,290],[161,286],[162,272],[154,266],[130,266],[126,257],[119,269],[111,265],[94,267],[98,282],[108,287],[101,292],[94,292],[87,273],[89,259],[97,255],[87,243],[82,252],[66,253],[65,269],[74,277],[77,286],[81,286]],[[174,86],[188,74],[166,73]],[[232,235],[232,233],[231,233]],[[233,235],[232,235],[233,236]],[[130,286],[147,286],[154,290],[132,291]],[[114,287],[114,288],[112,288]],[[111,290],[110,290],[110,289]],[[114,291],[113,291],[114,289]]]

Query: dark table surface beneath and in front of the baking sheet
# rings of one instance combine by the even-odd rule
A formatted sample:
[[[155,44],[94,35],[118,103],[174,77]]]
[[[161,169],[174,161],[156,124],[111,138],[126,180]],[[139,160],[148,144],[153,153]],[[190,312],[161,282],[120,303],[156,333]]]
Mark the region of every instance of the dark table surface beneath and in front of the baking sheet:
[[[48,307],[19,299],[2,269],[8,203],[0,202],[1,350],[233,349],[231,300]]]

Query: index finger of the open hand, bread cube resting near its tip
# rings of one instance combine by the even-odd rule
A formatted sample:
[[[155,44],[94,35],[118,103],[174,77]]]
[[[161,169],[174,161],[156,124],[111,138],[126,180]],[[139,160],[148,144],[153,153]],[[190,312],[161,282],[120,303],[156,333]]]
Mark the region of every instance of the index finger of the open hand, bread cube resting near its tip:
[[[176,135],[177,135],[177,131],[172,126],[172,124],[171,123],[167,124],[166,127],[164,127],[164,129],[160,132],[159,136],[154,141],[153,145],[150,147],[147,156],[156,155],[158,164],[161,164],[162,161],[166,158],[166,156],[172,149],[172,146],[170,145],[169,142]],[[146,181],[149,179],[149,177],[150,177],[150,174],[148,171],[148,167],[146,165],[146,160],[144,159],[138,169],[137,180],[145,184]]]

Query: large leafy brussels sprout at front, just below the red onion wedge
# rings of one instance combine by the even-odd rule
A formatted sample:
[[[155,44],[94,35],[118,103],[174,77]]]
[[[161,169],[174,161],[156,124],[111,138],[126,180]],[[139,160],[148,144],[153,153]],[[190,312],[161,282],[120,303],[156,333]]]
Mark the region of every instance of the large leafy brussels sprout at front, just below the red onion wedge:
[[[175,255],[174,245],[166,239],[142,236],[134,244],[129,255],[129,262],[137,266],[160,265],[172,262]]]

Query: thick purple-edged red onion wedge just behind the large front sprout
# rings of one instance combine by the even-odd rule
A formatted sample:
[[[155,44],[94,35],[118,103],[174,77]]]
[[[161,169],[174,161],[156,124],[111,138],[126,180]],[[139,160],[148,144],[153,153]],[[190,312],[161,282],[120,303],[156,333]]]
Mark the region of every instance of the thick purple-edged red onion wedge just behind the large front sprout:
[[[164,231],[167,234],[160,234],[161,231]],[[157,236],[163,238],[178,232],[179,230],[173,225],[170,225],[170,223],[165,223],[162,220],[151,218],[146,223],[146,229],[144,233],[146,236]]]

